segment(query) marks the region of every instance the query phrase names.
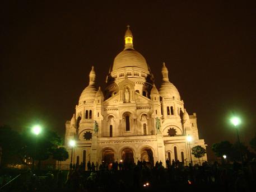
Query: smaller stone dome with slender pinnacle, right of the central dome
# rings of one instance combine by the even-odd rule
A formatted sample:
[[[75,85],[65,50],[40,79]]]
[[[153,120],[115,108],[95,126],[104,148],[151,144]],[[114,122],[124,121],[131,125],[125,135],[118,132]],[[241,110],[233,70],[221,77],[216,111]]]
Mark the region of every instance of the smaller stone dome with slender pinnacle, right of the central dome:
[[[168,78],[168,69],[165,66],[165,63],[162,63],[162,84],[159,89],[161,97],[164,98],[173,98],[180,100],[180,93],[177,88],[169,81]]]

